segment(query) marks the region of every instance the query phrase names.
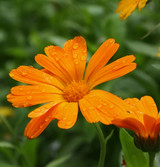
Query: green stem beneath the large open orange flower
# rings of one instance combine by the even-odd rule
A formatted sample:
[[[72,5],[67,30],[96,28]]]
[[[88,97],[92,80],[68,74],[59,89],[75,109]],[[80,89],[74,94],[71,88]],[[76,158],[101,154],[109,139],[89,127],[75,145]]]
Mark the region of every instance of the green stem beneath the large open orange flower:
[[[106,157],[106,141],[102,132],[102,129],[100,128],[98,123],[93,124],[97,130],[97,134],[100,141],[101,151],[100,151],[100,158],[98,167],[104,167],[105,157]]]

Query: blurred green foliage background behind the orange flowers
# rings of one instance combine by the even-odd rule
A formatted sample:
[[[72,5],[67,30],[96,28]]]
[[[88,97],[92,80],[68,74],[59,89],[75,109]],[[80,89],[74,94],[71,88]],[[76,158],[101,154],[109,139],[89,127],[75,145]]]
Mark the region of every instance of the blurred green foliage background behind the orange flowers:
[[[44,47],[59,45],[75,36],[83,36],[88,60],[108,38],[120,48],[111,61],[129,54],[136,56],[137,69],[98,88],[122,98],[151,95],[160,109],[160,5],[149,2],[125,21],[115,13],[119,0],[0,0],[0,111],[10,107],[8,130],[0,122],[0,166],[2,167],[96,167],[99,141],[93,125],[79,113],[76,125],[59,129],[52,122],[38,138],[23,136],[34,107],[13,108],[6,100],[10,88],[20,83],[8,73],[20,65],[39,66],[34,56]],[[147,34],[148,33],[148,34]],[[146,35],[147,34],[147,35]],[[146,35],[146,36],[145,36]],[[114,133],[107,144],[106,164],[120,167],[122,162],[119,129],[102,125],[105,135]],[[18,136],[18,141],[14,139]]]

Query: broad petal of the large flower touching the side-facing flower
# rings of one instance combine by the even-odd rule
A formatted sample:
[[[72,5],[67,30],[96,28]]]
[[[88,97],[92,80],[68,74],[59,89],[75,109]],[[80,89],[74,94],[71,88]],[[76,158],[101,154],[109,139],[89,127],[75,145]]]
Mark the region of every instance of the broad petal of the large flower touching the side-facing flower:
[[[98,113],[102,113],[108,120],[128,114],[128,106],[122,99],[103,90],[90,91],[88,95],[83,97],[82,101],[88,102],[92,108],[95,108]]]

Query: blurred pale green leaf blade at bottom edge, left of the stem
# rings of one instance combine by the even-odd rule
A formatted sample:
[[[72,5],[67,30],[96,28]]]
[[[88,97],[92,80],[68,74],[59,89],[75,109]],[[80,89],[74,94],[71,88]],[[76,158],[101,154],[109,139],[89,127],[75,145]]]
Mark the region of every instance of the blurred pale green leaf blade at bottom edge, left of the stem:
[[[71,154],[63,156],[57,160],[54,160],[53,162],[50,162],[45,167],[60,167],[65,161],[67,161],[71,157]],[[64,166],[64,165],[63,165]]]

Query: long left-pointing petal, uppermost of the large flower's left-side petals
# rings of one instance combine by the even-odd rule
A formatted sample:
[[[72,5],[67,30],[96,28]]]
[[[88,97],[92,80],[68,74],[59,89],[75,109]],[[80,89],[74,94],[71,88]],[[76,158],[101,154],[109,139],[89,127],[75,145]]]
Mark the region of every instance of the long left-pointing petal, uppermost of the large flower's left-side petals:
[[[45,83],[62,90],[64,88],[62,82],[55,77],[30,66],[20,66],[17,69],[12,70],[9,75],[11,78],[27,84]]]

